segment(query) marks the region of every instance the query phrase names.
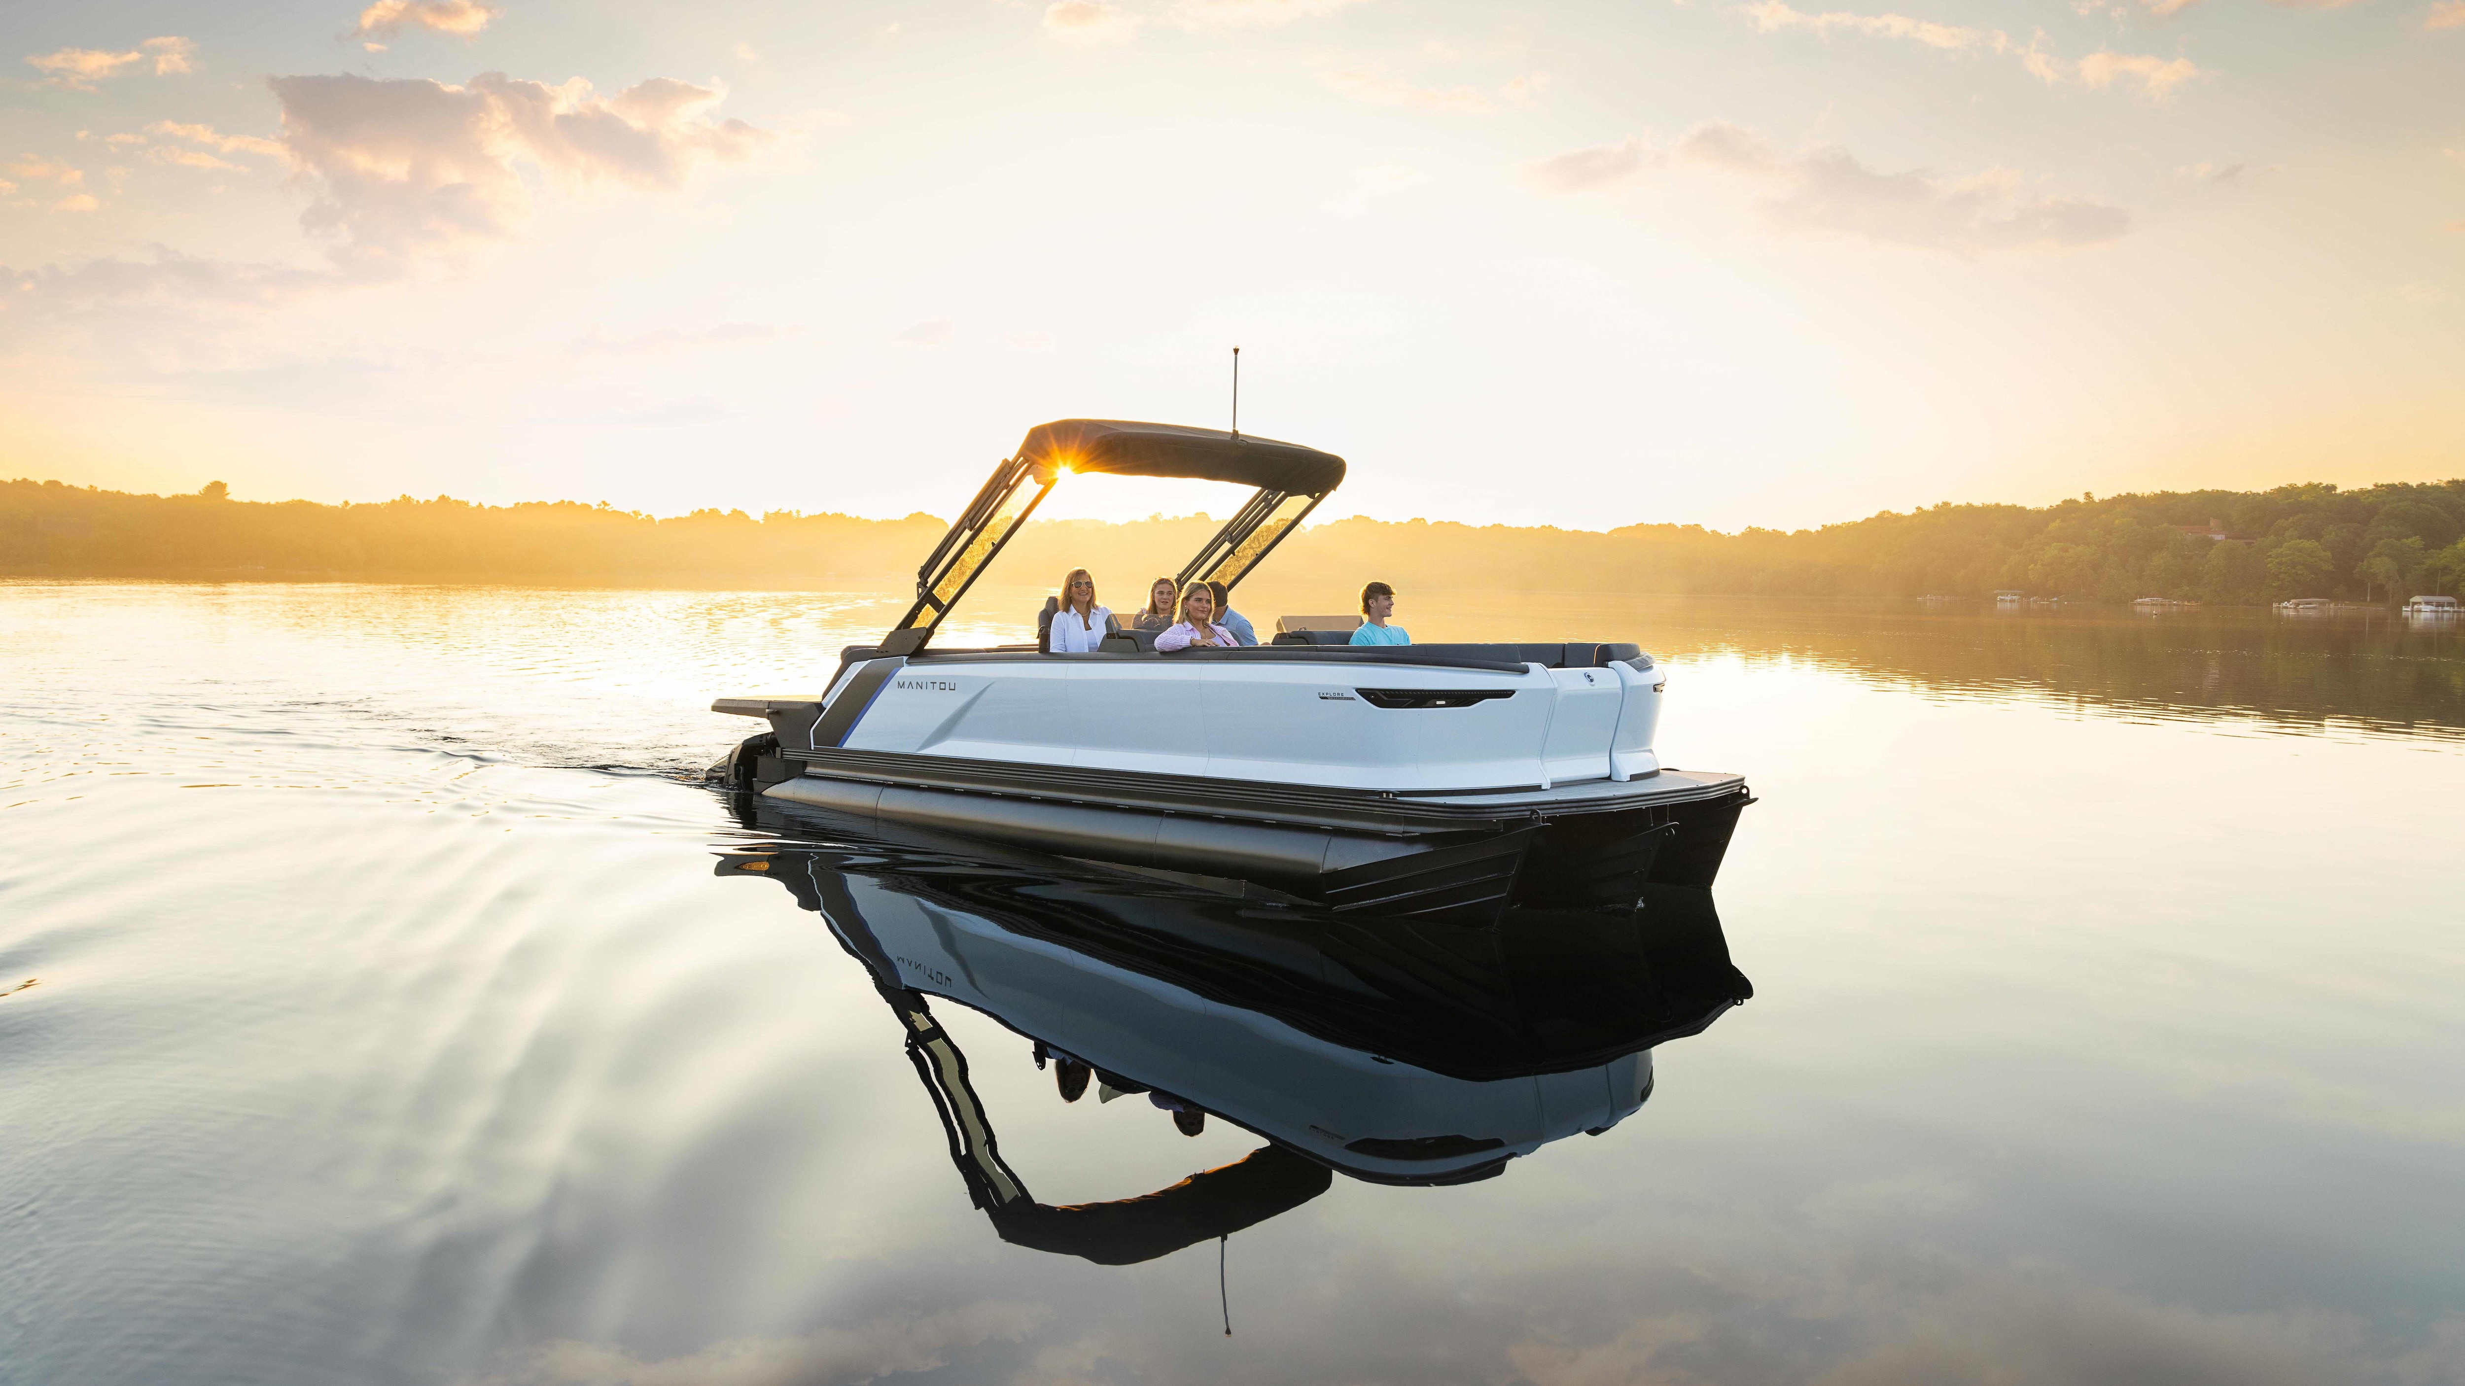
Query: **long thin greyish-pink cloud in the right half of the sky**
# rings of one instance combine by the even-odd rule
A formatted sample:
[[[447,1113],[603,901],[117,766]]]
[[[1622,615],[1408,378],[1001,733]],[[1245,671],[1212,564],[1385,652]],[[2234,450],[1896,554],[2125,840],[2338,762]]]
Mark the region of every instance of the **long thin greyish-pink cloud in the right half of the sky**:
[[[2083,249],[2120,239],[2130,212],[2080,197],[2024,197],[2019,175],[1987,170],[1937,178],[1928,170],[1876,173],[1849,150],[1780,155],[1762,136],[1713,123],[1691,131],[1676,158],[1772,185],[1755,205],[1785,234],[1819,234],[1982,254],[2009,249]]]

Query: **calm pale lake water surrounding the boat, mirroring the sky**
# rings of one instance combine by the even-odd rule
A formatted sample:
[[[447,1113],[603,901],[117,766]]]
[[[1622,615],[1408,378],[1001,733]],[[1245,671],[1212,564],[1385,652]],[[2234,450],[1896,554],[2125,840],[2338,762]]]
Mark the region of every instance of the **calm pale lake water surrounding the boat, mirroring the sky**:
[[[1011,1014],[932,1019],[1048,1206],[1245,1159],[1223,1107],[1531,1093],[1467,1073],[1558,1016],[1030,947],[1205,908],[698,784],[752,730],[712,695],[887,617],[0,584],[0,1381],[2465,1381],[2455,626],[1408,594],[1420,639],[1671,666],[1661,757],[1760,794],[1686,967],[1753,999],[1686,1033],[1647,925],[1671,1023],[1615,1127],[1097,1265],[971,1204],[841,935],[986,964],[951,994]],[[1065,1102],[1021,1033],[1062,1001],[1218,1115]]]

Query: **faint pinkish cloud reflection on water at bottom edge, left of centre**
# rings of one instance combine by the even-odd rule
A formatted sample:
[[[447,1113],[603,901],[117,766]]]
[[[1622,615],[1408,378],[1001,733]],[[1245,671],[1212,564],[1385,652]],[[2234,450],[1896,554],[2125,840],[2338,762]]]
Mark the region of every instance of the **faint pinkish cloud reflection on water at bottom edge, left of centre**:
[[[730,1339],[690,1356],[643,1361],[624,1349],[555,1342],[486,1386],[823,1386],[949,1366],[954,1349],[1018,1342],[1043,1307],[979,1300],[917,1317],[870,1319],[806,1337]]]

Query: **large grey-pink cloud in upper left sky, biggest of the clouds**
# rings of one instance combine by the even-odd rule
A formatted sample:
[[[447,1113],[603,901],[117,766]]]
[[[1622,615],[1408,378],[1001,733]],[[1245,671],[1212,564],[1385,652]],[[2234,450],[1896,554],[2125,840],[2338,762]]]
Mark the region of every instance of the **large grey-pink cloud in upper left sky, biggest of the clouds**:
[[[742,160],[774,138],[710,111],[725,91],[653,76],[611,99],[500,72],[429,79],[276,76],[283,150],[318,195],[301,224],[340,254],[399,264],[513,237],[532,210],[523,168],[584,190],[675,190],[695,165]]]

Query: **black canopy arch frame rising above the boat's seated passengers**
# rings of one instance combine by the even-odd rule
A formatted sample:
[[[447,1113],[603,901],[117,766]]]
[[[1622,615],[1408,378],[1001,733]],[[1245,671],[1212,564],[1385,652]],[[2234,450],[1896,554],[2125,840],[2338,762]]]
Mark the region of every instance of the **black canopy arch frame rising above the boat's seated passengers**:
[[[1277,439],[1181,424],[1124,419],[1038,424],[1013,456],[993,466],[976,498],[917,567],[917,599],[882,639],[882,654],[924,649],[976,577],[1070,474],[1183,476],[1257,486],[1257,493],[1173,577],[1181,587],[1223,582],[1230,589],[1343,483],[1343,459]]]

